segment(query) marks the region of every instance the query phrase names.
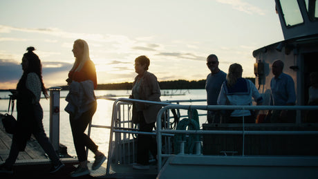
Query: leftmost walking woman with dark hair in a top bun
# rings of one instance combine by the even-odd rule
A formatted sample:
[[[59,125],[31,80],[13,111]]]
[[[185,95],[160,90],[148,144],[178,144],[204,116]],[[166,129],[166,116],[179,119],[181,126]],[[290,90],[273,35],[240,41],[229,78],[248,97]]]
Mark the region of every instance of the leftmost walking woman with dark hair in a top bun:
[[[41,61],[33,53],[34,47],[29,47],[28,53],[22,58],[22,70],[24,73],[17,84],[17,92],[12,95],[17,100],[17,126],[13,134],[9,157],[1,165],[0,173],[12,173],[12,166],[17,160],[19,151],[24,151],[26,142],[33,134],[42,149],[48,154],[53,167],[50,173],[55,173],[64,164],[59,160],[52,144],[44,131],[42,119],[43,110],[39,104],[41,92],[47,98],[48,93],[42,80]]]

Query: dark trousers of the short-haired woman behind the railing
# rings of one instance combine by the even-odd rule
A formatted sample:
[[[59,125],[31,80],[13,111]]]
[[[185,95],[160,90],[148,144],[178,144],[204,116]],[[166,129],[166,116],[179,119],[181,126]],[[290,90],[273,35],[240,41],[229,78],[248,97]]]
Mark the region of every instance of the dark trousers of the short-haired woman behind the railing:
[[[152,132],[152,129],[155,127],[155,123],[147,124],[144,120],[144,115],[142,111],[139,112],[140,123],[139,131],[142,132]],[[149,151],[154,158],[157,156],[157,141],[156,137],[153,135],[142,135],[138,134],[138,143],[137,143],[137,163],[148,165],[149,164]]]

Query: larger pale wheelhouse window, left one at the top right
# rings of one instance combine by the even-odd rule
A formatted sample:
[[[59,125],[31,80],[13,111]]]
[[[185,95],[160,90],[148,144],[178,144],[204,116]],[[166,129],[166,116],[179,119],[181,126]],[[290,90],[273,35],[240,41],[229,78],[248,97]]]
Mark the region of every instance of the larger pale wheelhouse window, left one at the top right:
[[[281,0],[281,10],[287,27],[303,23],[297,0]]]

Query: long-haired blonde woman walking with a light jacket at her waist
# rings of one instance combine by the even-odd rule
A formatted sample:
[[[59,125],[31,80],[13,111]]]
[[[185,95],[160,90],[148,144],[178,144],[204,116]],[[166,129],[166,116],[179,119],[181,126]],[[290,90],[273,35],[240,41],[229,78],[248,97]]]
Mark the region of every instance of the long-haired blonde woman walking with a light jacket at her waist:
[[[74,41],[73,54],[75,63],[68,73],[69,93],[66,96],[68,105],[65,111],[70,115],[75,151],[79,166],[71,173],[72,177],[85,176],[90,173],[87,167],[85,147],[93,151],[95,161],[92,169],[98,169],[106,160],[104,154],[98,151],[98,146],[84,133],[97,108],[94,89],[97,87],[95,64],[89,57],[88,44],[83,39]]]

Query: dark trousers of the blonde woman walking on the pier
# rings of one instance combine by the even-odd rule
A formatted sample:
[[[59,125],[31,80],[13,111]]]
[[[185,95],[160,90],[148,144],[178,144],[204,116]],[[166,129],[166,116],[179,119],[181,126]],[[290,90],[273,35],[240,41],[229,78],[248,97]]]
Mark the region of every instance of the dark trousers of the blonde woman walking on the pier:
[[[85,130],[91,122],[92,117],[96,111],[97,104],[93,106],[92,109],[83,113],[78,119],[73,119],[73,116],[70,115],[70,124],[73,134],[73,142],[75,146],[75,151],[79,162],[84,162],[87,160],[85,147],[95,153],[98,146],[91,140],[91,138],[86,135]]]

